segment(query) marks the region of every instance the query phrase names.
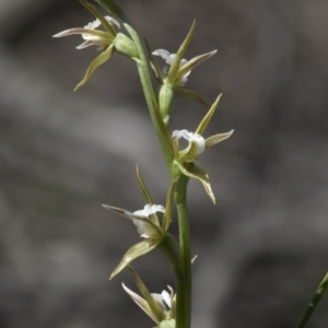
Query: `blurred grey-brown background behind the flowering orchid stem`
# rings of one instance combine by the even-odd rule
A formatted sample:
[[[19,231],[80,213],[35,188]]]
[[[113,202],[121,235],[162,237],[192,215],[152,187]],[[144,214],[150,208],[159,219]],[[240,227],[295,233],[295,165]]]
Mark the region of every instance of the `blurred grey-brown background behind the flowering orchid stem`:
[[[194,326],[295,327],[328,263],[328,2],[121,0],[154,49],[218,49],[188,89],[223,93],[201,159],[213,206],[191,183]],[[132,62],[115,55],[73,93],[95,48],[51,35],[91,22],[75,0],[0,1],[0,327],[151,327],[108,282],[134,226],[102,209],[143,207],[134,164],[157,203],[168,177]],[[206,108],[177,101],[172,128]],[[176,233],[174,218],[173,233]],[[153,292],[174,281],[156,251],[136,261]],[[308,328],[328,326],[324,297]]]

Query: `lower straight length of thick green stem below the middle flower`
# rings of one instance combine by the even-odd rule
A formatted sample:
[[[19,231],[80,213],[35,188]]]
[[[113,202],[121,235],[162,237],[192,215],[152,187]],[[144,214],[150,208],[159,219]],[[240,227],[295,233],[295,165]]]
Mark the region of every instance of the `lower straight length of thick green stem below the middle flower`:
[[[184,295],[177,294],[176,328],[189,328],[191,323],[191,251],[187,213],[187,185],[189,178],[180,175],[175,188],[177,206]],[[178,285],[179,289],[179,285]]]

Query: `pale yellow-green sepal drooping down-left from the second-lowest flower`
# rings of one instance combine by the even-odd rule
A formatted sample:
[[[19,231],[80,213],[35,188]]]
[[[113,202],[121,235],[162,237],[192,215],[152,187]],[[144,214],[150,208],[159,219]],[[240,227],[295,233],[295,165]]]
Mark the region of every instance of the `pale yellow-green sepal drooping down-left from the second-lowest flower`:
[[[109,280],[112,280],[116,274],[118,274],[121,270],[128,267],[136,258],[150,253],[159,244],[159,241],[154,239],[145,239],[140,242],[133,246],[131,246],[116,269],[112,272]]]

